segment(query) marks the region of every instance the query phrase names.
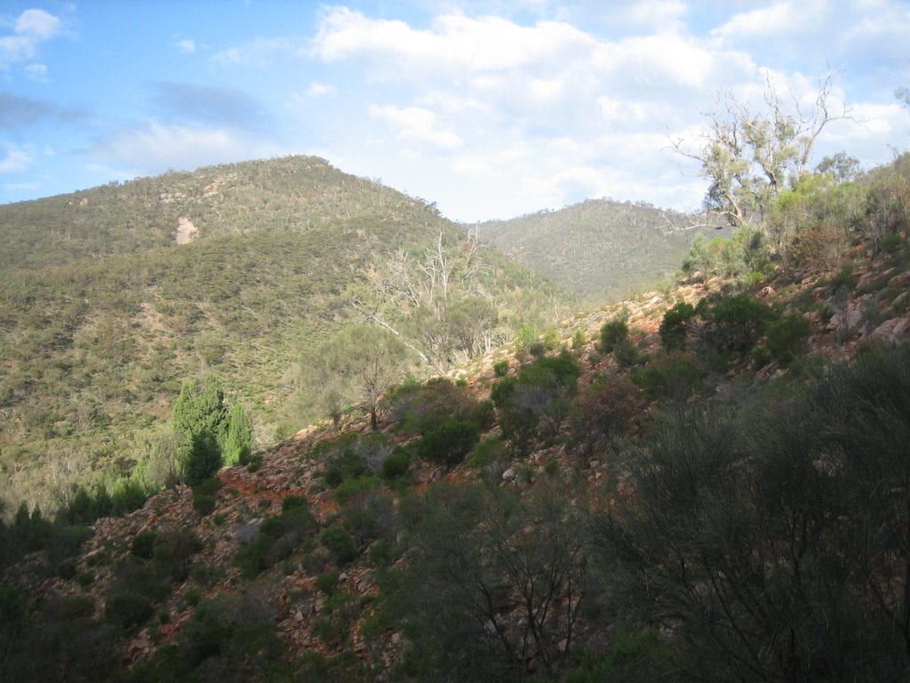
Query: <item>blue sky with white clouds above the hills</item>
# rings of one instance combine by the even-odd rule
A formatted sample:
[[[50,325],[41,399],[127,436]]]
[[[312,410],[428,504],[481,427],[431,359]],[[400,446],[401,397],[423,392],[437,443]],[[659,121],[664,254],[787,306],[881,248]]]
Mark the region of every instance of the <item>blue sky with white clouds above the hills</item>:
[[[828,73],[816,160],[908,148],[906,0],[3,0],[0,203],[309,154],[466,222],[698,209],[672,143]]]

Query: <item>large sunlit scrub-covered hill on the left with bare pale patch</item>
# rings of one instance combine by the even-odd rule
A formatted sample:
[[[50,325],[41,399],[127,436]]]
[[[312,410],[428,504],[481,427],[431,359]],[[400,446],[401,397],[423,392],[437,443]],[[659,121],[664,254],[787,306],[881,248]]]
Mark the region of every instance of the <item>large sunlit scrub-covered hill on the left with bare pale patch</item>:
[[[258,442],[278,440],[321,417],[290,400],[308,348],[380,314],[405,330],[412,311],[381,311],[381,289],[430,254],[452,270],[466,249],[470,278],[452,297],[494,302],[490,340],[570,301],[425,202],[319,158],[0,207],[0,498],[53,506],[76,481],[128,473],[181,382],[211,372],[247,404]],[[466,352],[446,353],[439,363]]]

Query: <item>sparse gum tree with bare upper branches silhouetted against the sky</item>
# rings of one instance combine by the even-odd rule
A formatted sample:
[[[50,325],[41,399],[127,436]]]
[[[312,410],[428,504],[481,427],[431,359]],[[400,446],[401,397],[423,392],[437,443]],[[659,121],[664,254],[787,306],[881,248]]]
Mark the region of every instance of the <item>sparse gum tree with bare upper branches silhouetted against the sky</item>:
[[[672,142],[677,153],[702,164],[701,175],[710,183],[706,209],[734,227],[761,222],[780,192],[803,178],[824,127],[849,117],[844,107],[832,110],[833,87],[834,76],[824,76],[805,107],[793,92],[778,92],[768,76],[762,113],[728,94],[705,113],[709,123],[700,149],[682,139]]]

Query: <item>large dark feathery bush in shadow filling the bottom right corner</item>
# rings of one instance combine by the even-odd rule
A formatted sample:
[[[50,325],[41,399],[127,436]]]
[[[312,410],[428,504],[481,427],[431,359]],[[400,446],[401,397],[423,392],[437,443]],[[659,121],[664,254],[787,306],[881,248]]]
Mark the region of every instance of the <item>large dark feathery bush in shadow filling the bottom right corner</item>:
[[[695,678],[896,679],[910,556],[910,353],[817,372],[804,398],[677,408],[602,515],[612,596],[671,625]],[[900,510],[899,510],[899,509]]]

